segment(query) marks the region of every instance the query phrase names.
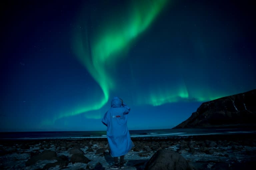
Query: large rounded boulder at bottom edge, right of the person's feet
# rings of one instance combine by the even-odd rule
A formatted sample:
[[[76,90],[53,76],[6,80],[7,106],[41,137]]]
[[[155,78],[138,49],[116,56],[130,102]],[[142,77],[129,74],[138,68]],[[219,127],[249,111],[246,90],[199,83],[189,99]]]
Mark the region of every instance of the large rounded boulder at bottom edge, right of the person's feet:
[[[147,162],[145,170],[190,170],[186,159],[171,150],[158,150]]]

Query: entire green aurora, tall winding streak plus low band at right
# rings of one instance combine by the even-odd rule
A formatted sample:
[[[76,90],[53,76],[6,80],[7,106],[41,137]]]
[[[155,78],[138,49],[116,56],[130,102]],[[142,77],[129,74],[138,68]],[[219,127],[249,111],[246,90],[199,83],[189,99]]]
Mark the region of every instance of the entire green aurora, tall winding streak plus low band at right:
[[[133,41],[152,24],[160,11],[167,5],[168,1],[155,0],[142,2],[134,1],[130,6],[131,9],[124,10],[124,16],[128,17],[125,18],[126,22],[110,17],[108,18],[109,20],[104,20],[104,23],[101,23],[100,28],[104,29],[96,30],[92,34],[90,33],[91,26],[88,24],[88,21],[83,20],[88,13],[83,14],[79,18],[78,23],[80,27],[73,31],[73,51],[77,59],[98,83],[99,89],[103,93],[99,97],[97,96],[98,94],[92,94],[92,96],[97,96],[97,99],[101,98],[101,100],[83,101],[82,103],[84,104],[81,104],[82,106],[59,111],[58,115],[53,116],[50,120],[45,120],[42,123],[43,125],[52,125],[56,120],[61,118],[99,110],[108,102],[110,91],[116,87],[114,77],[110,76],[111,68],[115,67],[120,57],[125,56],[118,54],[123,54],[128,50]],[[114,15],[120,14],[116,13]],[[188,87],[182,80],[177,80],[176,82],[179,82],[179,84],[172,86],[160,84],[149,91],[144,91],[144,95],[135,95],[136,104],[160,106],[178,101],[194,100],[204,102],[226,95],[200,88],[188,90]],[[209,93],[205,93],[207,91]],[[100,113],[86,113],[84,117],[87,119],[101,119],[102,115]]]

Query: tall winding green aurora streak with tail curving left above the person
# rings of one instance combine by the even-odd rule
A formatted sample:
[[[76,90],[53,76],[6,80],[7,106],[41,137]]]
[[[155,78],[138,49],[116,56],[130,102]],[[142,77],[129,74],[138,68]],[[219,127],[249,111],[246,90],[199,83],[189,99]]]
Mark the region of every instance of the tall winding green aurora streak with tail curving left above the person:
[[[59,113],[59,116],[44,122],[44,124],[52,124],[57,119],[102,108],[109,99],[110,90],[115,87],[115,81],[110,71],[112,67],[115,67],[115,61],[118,57],[121,57],[117,54],[127,50],[126,48],[132,41],[150,26],[166,3],[167,0],[133,1],[132,8],[126,11],[125,16],[128,17],[125,18],[125,22],[109,18],[109,22],[104,21],[103,29],[94,34],[88,33],[90,25],[87,25],[83,30],[75,30],[74,52],[78,60],[99,84],[104,97],[101,100],[92,101],[93,104],[85,104],[82,108],[74,108],[73,111]],[[121,15],[120,13],[115,14],[115,16]],[[81,17],[80,25],[87,24],[83,18],[87,17]],[[92,115],[88,118],[100,119],[99,116],[94,117]]]

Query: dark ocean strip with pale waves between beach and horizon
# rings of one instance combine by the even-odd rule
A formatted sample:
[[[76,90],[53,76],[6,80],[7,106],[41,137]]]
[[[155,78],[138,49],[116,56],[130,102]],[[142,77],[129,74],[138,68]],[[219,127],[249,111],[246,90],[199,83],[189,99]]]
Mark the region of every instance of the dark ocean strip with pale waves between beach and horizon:
[[[186,128],[186,129],[149,129],[129,130],[131,137],[168,137],[191,135],[241,134],[256,133],[251,128]],[[106,131],[32,131],[32,132],[0,132],[0,139],[80,139],[106,138]]]

